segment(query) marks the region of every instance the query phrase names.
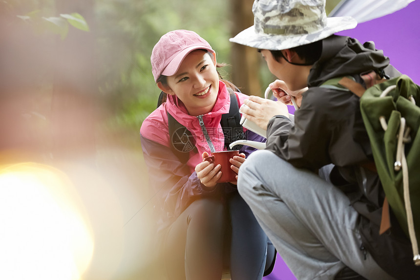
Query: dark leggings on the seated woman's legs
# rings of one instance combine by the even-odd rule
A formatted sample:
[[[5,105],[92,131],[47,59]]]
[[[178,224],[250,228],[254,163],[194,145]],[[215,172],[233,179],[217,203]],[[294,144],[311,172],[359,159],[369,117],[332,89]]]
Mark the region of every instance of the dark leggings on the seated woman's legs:
[[[237,192],[227,203],[192,202],[168,228],[164,247],[170,280],[220,280],[226,266],[232,280],[259,280],[266,269],[266,254],[267,267],[275,257],[273,245]],[[229,247],[230,254],[224,249]]]

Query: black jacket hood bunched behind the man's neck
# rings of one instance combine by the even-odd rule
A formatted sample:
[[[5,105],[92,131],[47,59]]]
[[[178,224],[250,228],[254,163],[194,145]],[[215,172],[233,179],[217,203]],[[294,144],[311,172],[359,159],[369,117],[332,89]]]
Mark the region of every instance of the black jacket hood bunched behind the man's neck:
[[[361,44],[356,39],[345,36],[330,36],[322,41],[320,59],[311,68],[308,86],[319,86],[325,81],[383,69],[389,65],[389,59],[377,50],[373,42]]]

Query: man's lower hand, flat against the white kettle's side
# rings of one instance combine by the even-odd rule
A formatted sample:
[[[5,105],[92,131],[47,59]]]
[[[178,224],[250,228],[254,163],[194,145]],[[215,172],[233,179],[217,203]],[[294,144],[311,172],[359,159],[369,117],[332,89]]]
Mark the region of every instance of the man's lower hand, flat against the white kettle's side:
[[[250,96],[244,101],[246,106],[241,106],[242,116],[254,122],[262,129],[267,129],[268,122],[273,116],[283,115],[289,117],[287,106],[280,101]]]

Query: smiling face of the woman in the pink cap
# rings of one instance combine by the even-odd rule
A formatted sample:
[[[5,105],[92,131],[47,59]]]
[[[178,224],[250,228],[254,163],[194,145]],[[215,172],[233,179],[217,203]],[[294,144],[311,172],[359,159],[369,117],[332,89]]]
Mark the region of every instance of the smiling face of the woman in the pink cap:
[[[164,92],[176,95],[191,116],[210,112],[219,92],[215,54],[211,57],[203,50],[190,52],[178,71],[167,78],[167,83],[158,86],[162,86]]]

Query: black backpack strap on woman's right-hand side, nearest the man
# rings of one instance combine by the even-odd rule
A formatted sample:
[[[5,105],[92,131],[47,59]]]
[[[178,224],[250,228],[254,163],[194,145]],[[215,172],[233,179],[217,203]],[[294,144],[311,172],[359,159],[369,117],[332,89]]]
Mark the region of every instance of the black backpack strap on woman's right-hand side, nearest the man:
[[[229,96],[231,98],[231,107],[229,113],[223,114],[220,121],[220,125],[225,135],[225,148],[229,151],[229,145],[236,140],[245,139],[244,129],[239,124],[241,121],[241,115],[239,114],[238,100],[236,99],[235,92],[228,87]],[[233,149],[239,150],[242,145],[236,145]]]

